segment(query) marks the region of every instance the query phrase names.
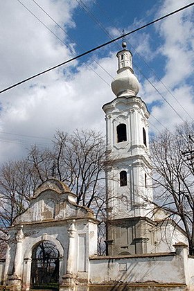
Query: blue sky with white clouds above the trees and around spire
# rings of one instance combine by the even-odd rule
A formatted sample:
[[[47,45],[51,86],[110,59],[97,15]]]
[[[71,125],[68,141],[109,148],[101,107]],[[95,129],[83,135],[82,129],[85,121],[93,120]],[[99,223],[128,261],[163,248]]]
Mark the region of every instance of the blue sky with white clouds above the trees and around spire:
[[[0,1],[0,91],[191,0]],[[193,121],[194,6],[126,37],[150,134]],[[56,130],[105,133],[102,106],[113,100],[121,40],[0,94],[0,166]]]

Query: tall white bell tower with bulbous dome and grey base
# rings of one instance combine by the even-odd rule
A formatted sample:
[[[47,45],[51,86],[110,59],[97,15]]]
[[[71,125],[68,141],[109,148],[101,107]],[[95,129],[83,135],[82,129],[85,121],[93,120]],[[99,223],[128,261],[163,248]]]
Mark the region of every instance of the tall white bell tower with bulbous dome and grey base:
[[[152,238],[152,182],[148,141],[150,113],[137,96],[132,53],[123,42],[112,82],[116,98],[103,105],[107,142],[107,249],[109,255],[142,254]]]

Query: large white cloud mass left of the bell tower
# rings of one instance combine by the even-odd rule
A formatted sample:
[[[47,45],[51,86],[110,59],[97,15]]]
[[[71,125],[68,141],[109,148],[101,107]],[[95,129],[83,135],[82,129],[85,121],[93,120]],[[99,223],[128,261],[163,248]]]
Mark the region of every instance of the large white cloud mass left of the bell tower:
[[[76,27],[72,17],[76,6],[72,6],[72,2],[75,1],[42,1],[42,7],[54,15],[62,26]],[[27,3],[28,1],[25,2],[26,5]],[[3,15],[11,9],[10,3],[6,2],[6,6],[2,11]],[[37,8],[33,6],[30,9],[35,9],[37,15]],[[62,11],[66,11],[65,15]],[[1,28],[4,34],[11,31],[10,37],[1,46],[1,89],[46,67],[72,58],[71,51],[57,42],[19,3],[15,2],[12,6],[10,17],[12,24],[3,17],[4,21],[7,21],[7,27]],[[47,25],[54,31],[57,29],[53,23],[48,22]],[[12,31],[13,27],[15,32]],[[60,37],[63,37],[64,42],[68,38],[67,35]],[[11,59],[8,58],[9,55]],[[110,54],[99,60],[96,55],[95,58],[100,66],[115,75],[115,55]],[[112,100],[112,91],[107,85],[111,80],[112,78],[94,62],[94,58],[91,58],[82,64],[72,62],[69,66],[55,69],[1,94],[1,163],[26,155],[26,149],[33,143],[49,145],[48,139],[44,138],[52,139],[58,129],[71,132],[77,127],[91,127],[104,132],[104,114],[101,107],[105,102]],[[28,136],[39,136],[39,139]],[[6,143],[8,140],[10,142]]]

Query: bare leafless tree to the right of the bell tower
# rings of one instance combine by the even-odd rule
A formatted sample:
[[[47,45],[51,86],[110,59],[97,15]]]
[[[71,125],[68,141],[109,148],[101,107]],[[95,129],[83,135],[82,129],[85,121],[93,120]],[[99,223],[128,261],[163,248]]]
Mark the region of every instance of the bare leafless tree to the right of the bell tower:
[[[194,123],[168,130],[151,143],[153,181],[159,206],[186,231],[189,253],[194,255],[194,159],[186,157],[194,150],[191,136]]]

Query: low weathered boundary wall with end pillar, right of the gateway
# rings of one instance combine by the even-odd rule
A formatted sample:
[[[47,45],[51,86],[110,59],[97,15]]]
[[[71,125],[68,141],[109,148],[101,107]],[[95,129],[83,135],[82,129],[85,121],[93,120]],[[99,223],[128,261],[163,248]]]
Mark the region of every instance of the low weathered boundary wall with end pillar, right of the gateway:
[[[105,285],[106,290],[111,285],[119,288],[136,288],[136,285],[146,288],[147,285],[148,289],[153,286],[157,290],[194,290],[194,258],[188,258],[187,249],[182,247],[171,253],[98,256],[90,258],[89,277],[91,286],[101,285],[101,289],[95,287],[94,290],[103,290]]]

